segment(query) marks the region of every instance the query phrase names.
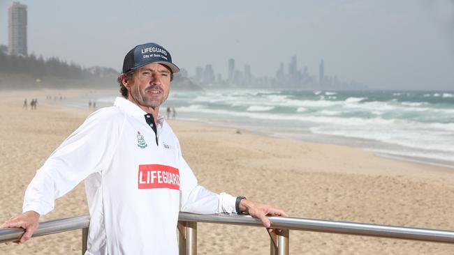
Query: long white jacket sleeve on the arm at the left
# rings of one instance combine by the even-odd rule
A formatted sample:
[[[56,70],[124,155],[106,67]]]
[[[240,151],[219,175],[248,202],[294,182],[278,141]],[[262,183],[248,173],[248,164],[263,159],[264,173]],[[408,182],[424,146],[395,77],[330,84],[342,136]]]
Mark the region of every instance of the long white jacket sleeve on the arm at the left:
[[[55,199],[108,166],[122,125],[115,125],[112,114],[106,111],[91,114],[36,171],[25,191],[23,212],[47,214],[54,208]]]

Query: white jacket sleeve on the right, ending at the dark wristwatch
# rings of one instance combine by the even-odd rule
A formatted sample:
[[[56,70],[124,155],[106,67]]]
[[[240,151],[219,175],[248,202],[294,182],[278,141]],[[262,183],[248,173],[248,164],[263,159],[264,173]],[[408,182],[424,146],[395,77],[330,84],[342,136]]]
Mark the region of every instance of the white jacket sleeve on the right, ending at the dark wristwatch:
[[[235,196],[227,193],[216,194],[205,187],[198,185],[193,171],[182,157],[180,144],[180,211],[199,214],[212,214],[219,212],[236,212]]]

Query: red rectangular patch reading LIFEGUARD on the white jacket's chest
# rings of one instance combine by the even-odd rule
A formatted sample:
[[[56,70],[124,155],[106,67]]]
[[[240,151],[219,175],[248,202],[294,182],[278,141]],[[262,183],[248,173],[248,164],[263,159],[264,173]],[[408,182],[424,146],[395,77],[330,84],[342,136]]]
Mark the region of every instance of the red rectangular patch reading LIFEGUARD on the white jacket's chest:
[[[180,190],[180,171],[163,164],[140,164],[138,189]]]

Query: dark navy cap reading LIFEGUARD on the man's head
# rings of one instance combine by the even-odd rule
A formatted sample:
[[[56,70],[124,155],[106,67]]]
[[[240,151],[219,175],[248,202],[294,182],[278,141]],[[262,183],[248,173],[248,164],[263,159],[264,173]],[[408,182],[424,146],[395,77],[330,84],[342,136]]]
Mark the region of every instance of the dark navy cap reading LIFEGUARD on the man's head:
[[[172,57],[167,49],[153,42],[133,47],[123,61],[123,73],[129,70],[136,70],[149,63],[160,63],[166,65],[173,73],[179,72],[180,68],[172,63]]]

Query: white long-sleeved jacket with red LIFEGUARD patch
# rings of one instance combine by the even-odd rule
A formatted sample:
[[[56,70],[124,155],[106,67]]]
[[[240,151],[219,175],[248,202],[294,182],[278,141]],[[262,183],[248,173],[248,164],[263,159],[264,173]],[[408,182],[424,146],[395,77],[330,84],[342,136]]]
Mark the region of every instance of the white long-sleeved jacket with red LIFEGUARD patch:
[[[235,212],[235,197],[197,184],[163,118],[159,145],[146,112],[117,98],[99,109],[46,160],[23,211],[45,215],[85,180],[91,216],[86,254],[178,254],[178,212]]]

